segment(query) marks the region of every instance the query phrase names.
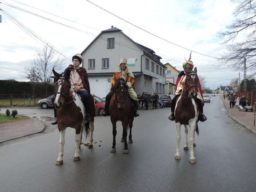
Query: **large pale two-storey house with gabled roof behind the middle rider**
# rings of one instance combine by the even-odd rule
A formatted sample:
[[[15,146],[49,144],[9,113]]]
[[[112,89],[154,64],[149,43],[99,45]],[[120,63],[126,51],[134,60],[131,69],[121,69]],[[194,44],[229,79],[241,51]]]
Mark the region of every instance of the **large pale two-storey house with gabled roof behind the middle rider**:
[[[82,66],[86,68],[91,93],[106,96],[120,58],[127,58],[127,65],[135,77],[137,94],[164,94],[166,66],[152,49],[134,42],[122,30],[111,27],[100,34],[86,47]]]

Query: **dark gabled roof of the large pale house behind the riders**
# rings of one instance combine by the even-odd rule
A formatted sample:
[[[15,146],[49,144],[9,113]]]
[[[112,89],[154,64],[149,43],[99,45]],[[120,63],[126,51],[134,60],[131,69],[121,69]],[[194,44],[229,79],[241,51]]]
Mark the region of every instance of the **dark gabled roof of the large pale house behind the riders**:
[[[144,52],[144,54],[146,54],[150,58],[154,59],[154,61],[157,61],[160,65],[162,65],[166,69],[166,66],[160,62],[160,59],[162,59],[162,58],[160,56],[156,55],[155,52],[152,49],[147,48],[147,47],[145,47],[141,44],[136,43],[130,37],[128,37],[126,34],[124,34],[122,30],[120,30],[117,27],[113,27],[113,26],[111,26],[110,29],[101,31],[100,34],[81,52],[81,55],[93,44],[93,42],[95,42],[100,37],[100,35],[102,35],[103,33],[110,33],[110,32],[121,32],[124,36],[127,37],[127,39],[129,39],[134,44],[136,44]]]

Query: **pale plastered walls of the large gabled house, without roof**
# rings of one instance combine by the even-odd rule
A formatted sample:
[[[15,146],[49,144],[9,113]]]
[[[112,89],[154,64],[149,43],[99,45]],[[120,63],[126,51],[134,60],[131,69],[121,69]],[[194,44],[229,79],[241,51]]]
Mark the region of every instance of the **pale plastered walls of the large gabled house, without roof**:
[[[115,38],[115,48],[107,49],[107,38]],[[153,95],[156,92],[156,83],[158,86],[165,85],[165,71],[164,75],[156,74],[156,65],[161,68],[162,74],[164,65],[158,64],[150,56],[144,54],[144,51],[133,41],[131,41],[122,32],[102,33],[82,54],[82,66],[86,68],[87,73],[113,73],[119,65],[120,58],[134,59],[134,65],[128,66],[130,71],[141,72],[141,75],[135,76],[135,89],[137,94],[146,92]],[[109,68],[102,68],[102,59],[109,58]],[[146,58],[149,59],[149,69],[146,69]],[[89,59],[95,59],[95,69],[89,68]],[[154,62],[154,72],[151,71],[151,62]],[[112,76],[89,76],[91,93],[102,97],[109,92],[109,83],[107,79],[112,79]],[[153,78],[153,80],[152,80]],[[97,81],[98,80],[98,81]],[[159,90],[159,88],[158,88]],[[158,91],[159,92],[159,91]],[[163,91],[161,91],[162,93]],[[161,93],[159,94],[161,96]],[[164,93],[164,92],[163,92]]]

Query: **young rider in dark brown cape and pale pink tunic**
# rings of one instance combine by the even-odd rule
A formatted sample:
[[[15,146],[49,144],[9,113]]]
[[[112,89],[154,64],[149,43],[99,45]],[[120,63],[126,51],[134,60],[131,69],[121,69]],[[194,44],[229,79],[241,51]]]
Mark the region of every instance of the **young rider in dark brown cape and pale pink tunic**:
[[[73,65],[69,65],[64,73],[67,70],[70,71],[70,82],[71,82],[71,89],[77,91],[81,94],[84,98],[84,105],[86,110],[85,120],[89,121],[91,118],[94,118],[95,115],[95,107],[94,106],[94,99],[91,95],[90,84],[88,80],[88,75],[85,68],[80,67],[82,63],[82,55],[75,54],[72,57]]]

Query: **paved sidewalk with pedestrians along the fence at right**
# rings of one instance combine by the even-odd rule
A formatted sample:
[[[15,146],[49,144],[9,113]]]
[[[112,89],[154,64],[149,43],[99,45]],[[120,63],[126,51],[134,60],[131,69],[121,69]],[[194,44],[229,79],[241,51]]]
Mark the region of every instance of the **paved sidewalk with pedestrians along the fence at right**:
[[[229,114],[229,116],[235,120],[236,122],[238,122],[239,124],[241,124],[243,127],[247,128],[248,130],[252,131],[253,133],[256,133],[256,127],[253,126],[253,115],[254,115],[254,111],[253,112],[244,112],[244,111],[239,111],[237,108],[231,108],[229,107],[229,100],[225,99],[221,96],[221,99],[227,109],[227,112]],[[256,122],[255,122],[256,124]]]

